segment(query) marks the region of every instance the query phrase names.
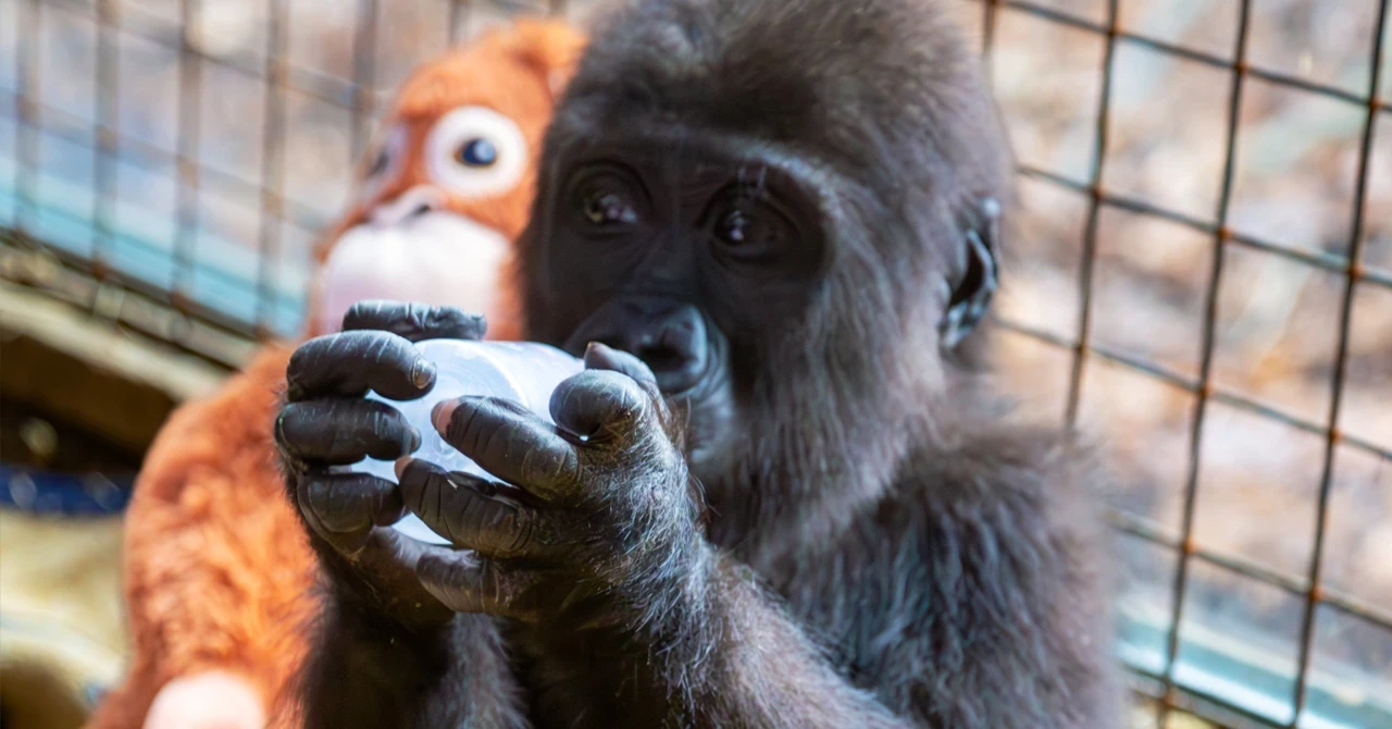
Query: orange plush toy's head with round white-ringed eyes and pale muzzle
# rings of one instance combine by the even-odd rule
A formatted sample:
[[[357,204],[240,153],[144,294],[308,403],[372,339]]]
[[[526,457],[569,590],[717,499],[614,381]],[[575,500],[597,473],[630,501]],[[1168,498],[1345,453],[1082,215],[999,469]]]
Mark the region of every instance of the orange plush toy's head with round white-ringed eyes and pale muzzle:
[[[406,79],[320,247],[309,335],[363,298],[452,304],[486,314],[493,337],[518,333],[512,240],[580,47],[565,25],[518,21]]]

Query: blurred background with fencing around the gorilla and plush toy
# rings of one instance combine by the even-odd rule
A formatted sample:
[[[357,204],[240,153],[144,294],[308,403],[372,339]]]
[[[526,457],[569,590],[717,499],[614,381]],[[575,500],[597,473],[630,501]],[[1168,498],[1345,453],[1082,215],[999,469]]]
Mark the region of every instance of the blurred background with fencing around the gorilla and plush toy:
[[[1388,1],[951,1],[1020,163],[1002,379],[1115,457],[1136,726],[1392,726]],[[93,697],[118,675],[143,447],[298,332],[404,75],[604,4],[0,0],[0,509],[70,514],[92,546],[49,578],[113,601],[0,574],[0,658],[50,624]]]

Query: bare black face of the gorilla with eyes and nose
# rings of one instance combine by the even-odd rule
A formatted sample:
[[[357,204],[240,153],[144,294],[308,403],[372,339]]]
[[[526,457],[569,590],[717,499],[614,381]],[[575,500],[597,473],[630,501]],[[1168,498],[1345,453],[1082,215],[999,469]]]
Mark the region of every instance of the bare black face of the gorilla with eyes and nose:
[[[696,454],[741,431],[767,343],[806,308],[827,259],[820,191],[777,160],[681,145],[586,145],[557,166],[550,336],[636,354],[686,408]]]

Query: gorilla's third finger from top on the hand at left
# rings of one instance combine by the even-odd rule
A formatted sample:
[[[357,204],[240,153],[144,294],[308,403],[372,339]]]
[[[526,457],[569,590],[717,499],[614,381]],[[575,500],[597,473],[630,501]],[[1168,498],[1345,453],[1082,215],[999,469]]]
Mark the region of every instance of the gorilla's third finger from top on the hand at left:
[[[309,400],[280,411],[276,443],[302,461],[337,466],[400,459],[420,447],[420,433],[387,403]]]

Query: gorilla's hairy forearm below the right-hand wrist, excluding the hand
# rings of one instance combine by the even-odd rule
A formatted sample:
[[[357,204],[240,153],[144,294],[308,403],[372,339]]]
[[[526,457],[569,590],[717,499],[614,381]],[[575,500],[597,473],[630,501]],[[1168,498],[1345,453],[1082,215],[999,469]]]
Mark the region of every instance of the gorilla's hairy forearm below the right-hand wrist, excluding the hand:
[[[697,549],[695,574],[651,601],[649,622],[533,636],[540,670],[565,686],[543,707],[589,697],[617,726],[910,725],[841,675],[746,566],[709,544]]]

